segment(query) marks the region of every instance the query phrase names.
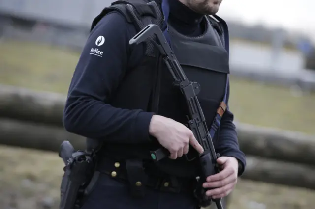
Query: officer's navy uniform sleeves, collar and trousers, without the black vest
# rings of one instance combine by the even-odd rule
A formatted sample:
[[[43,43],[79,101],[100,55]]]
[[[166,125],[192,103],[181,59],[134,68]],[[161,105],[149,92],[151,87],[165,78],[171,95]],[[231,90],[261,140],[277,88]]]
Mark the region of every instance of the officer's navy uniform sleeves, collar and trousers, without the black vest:
[[[187,36],[202,34],[204,31],[202,18],[203,15],[191,11],[178,0],[170,1],[169,22],[180,33]],[[63,116],[67,131],[99,140],[106,138],[107,142],[121,143],[122,146],[151,140],[149,124],[155,113],[121,109],[108,104],[124,75],[128,70],[135,68],[143,57],[143,45],[129,46],[128,44],[136,33],[135,26],[127,23],[125,17],[118,12],[106,15],[95,26],[70,84]],[[161,83],[163,79],[165,81],[164,77],[162,76]],[[168,94],[165,86],[161,85],[158,114],[182,122],[182,118],[177,115],[180,115],[180,110],[185,108],[186,104],[183,102],[183,107],[172,106],[170,101],[174,98]],[[227,97],[228,95],[229,91]],[[213,116],[215,111],[216,109]],[[206,118],[209,121],[212,119],[213,117]],[[220,140],[215,141],[216,151],[221,156],[237,158],[240,162],[239,175],[241,175],[245,167],[245,156],[239,150],[233,114],[229,110],[222,117],[219,134]],[[173,167],[175,173],[176,171],[183,173],[185,169],[189,173],[190,168],[186,165],[188,162],[174,163],[175,161],[170,159],[166,161],[168,161],[166,164],[171,163],[175,166]],[[123,207],[154,209],[153,203],[156,203],[157,209],[194,208],[190,196],[183,200],[183,196],[179,194],[163,194],[153,190],[148,191],[147,200],[131,199],[127,197],[127,187],[123,183],[115,182],[103,174],[83,208],[97,209],[97,204],[103,205],[101,201],[110,209]]]

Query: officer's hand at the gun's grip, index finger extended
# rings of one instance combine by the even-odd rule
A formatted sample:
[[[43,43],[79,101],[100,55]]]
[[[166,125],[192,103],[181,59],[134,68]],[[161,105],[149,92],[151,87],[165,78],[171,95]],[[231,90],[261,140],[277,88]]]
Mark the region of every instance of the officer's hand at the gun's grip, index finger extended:
[[[192,131],[173,119],[153,115],[149,133],[156,137],[158,142],[170,152],[169,158],[171,159],[187,154],[189,144],[200,154],[203,153],[203,148],[194,137]]]

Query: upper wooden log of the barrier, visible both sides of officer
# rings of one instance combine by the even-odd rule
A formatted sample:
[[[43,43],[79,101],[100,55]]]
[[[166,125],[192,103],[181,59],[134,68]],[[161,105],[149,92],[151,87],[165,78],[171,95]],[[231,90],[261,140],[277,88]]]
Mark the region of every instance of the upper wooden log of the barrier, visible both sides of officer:
[[[0,116],[62,126],[65,98],[61,94],[0,85]],[[315,165],[315,136],[246,124],[236,127],[241,150],[247,155]]]

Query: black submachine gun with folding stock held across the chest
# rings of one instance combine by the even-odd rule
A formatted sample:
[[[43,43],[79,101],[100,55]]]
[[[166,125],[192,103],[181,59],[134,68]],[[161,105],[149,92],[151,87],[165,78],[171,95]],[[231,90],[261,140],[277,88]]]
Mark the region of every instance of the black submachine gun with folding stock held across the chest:
[[[154,24],[146,26],[132,39],[130,39],[129,44],[139,44],[147,41],[147,39],[153,37],[153,35],[155,35],[157,42],[152,39],[150,39],[150,42],[152,42],[161,53],[163,61],[174,78],[173,84],[178,86],[185,96],[189,109],[188,127],[204,149],[204,153],[200,155],[194,149],[193,152],[191,152],[192,150],[189,150],[186,157],[189,161],[195,159],[196,157],[199,158],[202,172],[194,194],[199,201],[199,205],[205,207],[211,204],[211,199],[209,200],[205,195],[206,190],[202,187],[202,183],[206,182],[206,178],[208,176],[220,172],[219,165],[217,164],[217,158],[220,157],[220,155],[215,151],[204,114],[197,98],[197,95],[200,92],[200,85],[196,82],[189,82],[159,26]],[[154,161],[158,161],[168,157],[169,154],[170,153],[165,148],[160,148],[157,151],[151,152],[151,157]],[[223,209],[221,199],[213,201],[216,203],[218,209]]]

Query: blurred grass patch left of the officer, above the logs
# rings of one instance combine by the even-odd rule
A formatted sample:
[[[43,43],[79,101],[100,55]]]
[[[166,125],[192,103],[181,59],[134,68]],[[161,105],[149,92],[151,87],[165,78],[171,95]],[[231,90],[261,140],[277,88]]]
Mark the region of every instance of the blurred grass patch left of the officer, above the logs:
[[[79,52],[26,42],[0,42],[0,83],[66,93]]]

